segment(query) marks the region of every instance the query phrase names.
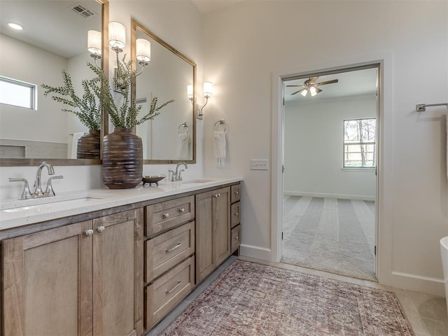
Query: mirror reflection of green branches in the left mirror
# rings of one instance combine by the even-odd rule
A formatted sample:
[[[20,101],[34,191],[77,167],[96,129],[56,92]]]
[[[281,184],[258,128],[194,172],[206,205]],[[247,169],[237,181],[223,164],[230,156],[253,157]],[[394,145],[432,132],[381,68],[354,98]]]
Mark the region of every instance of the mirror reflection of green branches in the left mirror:
[[[45,89],[45,96],[53,94],[52,99],[56,102],[71,106],[73,109],[62,109],[62,111],[73,113],[89,130],[101,129],[101,104],[99,93],[99,80],[82,80],[84,94],[78,97],[73,89],[71,76],[65,70],[62,70],[62,79],[64,86],[54,87],[42,84]]]

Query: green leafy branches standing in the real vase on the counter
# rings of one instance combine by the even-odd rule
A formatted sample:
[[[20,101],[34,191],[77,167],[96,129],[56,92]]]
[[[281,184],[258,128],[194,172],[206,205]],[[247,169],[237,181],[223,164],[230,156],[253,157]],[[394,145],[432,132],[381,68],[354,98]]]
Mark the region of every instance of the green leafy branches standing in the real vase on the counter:
[[[109,79],[104,74],[104,71],[92,64],[88,64],[88,66],[97,75],[97,78],[95,79],[99,83],[103,83],[102,86],[100,85],[99,88],[97,87],[98,91],[95,94],[98,95],[102,106],[109,113],[111,123],[115,127],[132,129],[136,125],[144,123],[146,120],[153,120],[160,114],[160,109],[174,102],[174,100],[170,100],[169,102],[157,106],[158,98],[154,97],[151,101],[148,113],[146,113],[144,117],[138,119],[137,116],[139,115],[141,105],[137,106],[135,99],[130,99],[131,85],[132,81],[137,77],[137,71],[132,69],[131,61],[125,61],[125,57],[126,55],[122,60],[118,60],[118,69],[115,76],[113,76],[113,85],[114,87],[118,87],[121,96],[119,97],[120,99],[114,99]],[[117,104],[116,100],[121,101],[121,105]]]

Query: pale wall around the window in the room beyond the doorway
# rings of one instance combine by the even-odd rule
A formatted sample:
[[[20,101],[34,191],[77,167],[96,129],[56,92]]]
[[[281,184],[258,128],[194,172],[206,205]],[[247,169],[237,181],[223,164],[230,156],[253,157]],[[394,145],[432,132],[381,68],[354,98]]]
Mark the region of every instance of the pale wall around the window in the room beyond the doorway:
[[[374,200],[374,171],[342,170],[345,119],[376,118],[374,95],[286,102],[286,195]]]

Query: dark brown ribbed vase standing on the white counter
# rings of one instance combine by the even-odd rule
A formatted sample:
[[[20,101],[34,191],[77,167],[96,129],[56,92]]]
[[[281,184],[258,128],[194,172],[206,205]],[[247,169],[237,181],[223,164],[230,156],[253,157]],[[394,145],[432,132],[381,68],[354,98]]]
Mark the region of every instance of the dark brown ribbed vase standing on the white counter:
[[[130,189],[141,183],[143,144],[129,128],[115,127],[103,141],[103,183],[110,189]]]

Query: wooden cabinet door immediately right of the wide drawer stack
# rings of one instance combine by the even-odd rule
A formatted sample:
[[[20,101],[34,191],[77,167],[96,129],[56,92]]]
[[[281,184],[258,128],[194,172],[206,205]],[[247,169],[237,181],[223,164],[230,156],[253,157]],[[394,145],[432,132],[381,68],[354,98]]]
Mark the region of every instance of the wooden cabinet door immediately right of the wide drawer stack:
[[[214,191],[196,195],[196,283],[200,283],[214,270],[214,195]]]

